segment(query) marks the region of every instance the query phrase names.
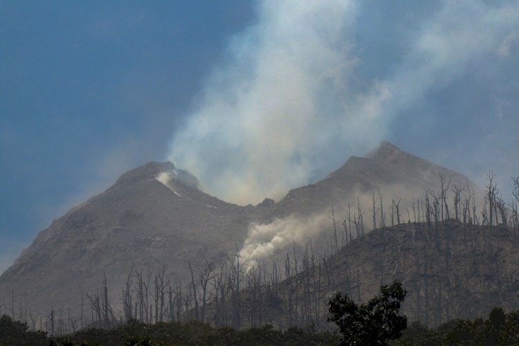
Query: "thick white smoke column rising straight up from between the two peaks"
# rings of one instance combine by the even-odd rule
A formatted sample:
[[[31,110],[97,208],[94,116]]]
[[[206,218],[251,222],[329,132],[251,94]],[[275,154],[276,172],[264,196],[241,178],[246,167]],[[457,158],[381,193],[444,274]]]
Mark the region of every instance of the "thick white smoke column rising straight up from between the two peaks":
[[[258,23],[233,39],[230,62],[215,69],[174,136],[170,159],[236,203],[307,182],[320,153],[354,135],[339,123],[370,126],[345,100],[355,12],[353,1],[262,1]],[[347,143],[379,140],[361,138]]]

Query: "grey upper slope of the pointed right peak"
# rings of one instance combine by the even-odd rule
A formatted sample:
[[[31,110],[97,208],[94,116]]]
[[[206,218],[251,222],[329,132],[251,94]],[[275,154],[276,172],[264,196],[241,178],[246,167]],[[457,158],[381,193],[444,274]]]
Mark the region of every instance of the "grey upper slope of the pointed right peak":
[[[391,204],[392,199],[402,199],[401,206],[405,208],[413,198],[424,197],[427,190],[439,190],[439,174],[450,181],[450,188],[454,184],[468,184],[476,192],[478,190],[463,174],[383,141],[365,157],[350,157],[342,167],[318,183],[291,190],[266,212],[265,217],[286,217],[293,212],[311,215],[330,210],[331,206],[335,206],[340,215],[347,203],[356,204],[357,197],[361,198],[365,209],[371,208],[372,193],[376,189],[382,192],[384,204]]]

